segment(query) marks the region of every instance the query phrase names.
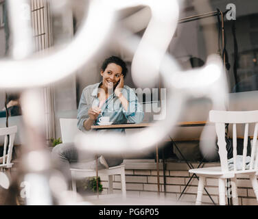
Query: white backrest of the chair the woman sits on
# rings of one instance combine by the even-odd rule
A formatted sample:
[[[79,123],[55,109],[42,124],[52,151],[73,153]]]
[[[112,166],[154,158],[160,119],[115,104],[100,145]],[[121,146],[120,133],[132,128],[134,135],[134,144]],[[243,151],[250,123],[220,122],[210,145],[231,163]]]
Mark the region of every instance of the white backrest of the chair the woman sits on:
[[[78,133],[82,133],[77,127],[77,118],[60,118],[62,142],[74,142]]]

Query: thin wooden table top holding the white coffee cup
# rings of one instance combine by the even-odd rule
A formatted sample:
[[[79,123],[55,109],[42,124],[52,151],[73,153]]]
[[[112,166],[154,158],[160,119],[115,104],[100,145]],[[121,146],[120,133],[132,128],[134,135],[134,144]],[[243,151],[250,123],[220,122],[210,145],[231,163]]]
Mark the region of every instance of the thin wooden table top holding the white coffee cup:
[[[191,122],[178,122],[176,127],[198,127],[204,126],[207,121],[191,121]],[[116,125],[92,125],[91,129],[139,129],[144,127],[151,127],[156,123],[128,123],[128,124],[116,124]]]

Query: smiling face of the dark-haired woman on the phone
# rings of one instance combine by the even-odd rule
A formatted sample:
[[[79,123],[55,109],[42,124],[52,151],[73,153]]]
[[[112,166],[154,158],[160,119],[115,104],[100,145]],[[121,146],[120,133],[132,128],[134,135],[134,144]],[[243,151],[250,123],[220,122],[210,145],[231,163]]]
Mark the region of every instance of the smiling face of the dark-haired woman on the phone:
[[[118,82],[122,75],[122,68],[118,64],[110,63],[108,66],[106,66],[106,69],[100,72],[100,75],[102,75],[103,83],[102,88],[110,89],[113,88]]]

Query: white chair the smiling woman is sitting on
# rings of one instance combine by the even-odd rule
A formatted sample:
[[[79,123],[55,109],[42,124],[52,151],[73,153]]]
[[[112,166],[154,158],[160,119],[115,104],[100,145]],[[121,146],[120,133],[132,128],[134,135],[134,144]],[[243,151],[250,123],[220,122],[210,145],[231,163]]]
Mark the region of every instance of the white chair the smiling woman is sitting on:
[[[60,118],[60,127],[62,142],[74,142],[75,135],[82,133],[77,128],[76,118]],[[76,179],[84,179],[86,177],[95,177],[95,170],[83,170],[77,168],[71,168],[72,177],[72,190],[76,191]],[[121,175],[121,191],[123,198],[126,198],[126,175],[125,165],[113,166],[108,169],[98,170],[98,176],[108,176],[108,194],[113,193],[113,175]]]

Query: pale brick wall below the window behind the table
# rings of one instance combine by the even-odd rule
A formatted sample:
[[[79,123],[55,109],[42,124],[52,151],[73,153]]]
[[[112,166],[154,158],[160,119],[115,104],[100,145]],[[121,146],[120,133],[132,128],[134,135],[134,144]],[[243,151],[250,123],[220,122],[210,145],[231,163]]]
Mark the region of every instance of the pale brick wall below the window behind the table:
[[[161,161],[162,162],[162,161]],[[137,197],[158,197],[157,188],[157,171],[154,160],[125,160],[126,164],[126,190],[127,195]],[[163,164],[159,165],[160,175],[160,197],[166,197],[177,201],[180,193],[184,190],[185,185],[189,181],[189,168],[185,163],[167,162],[167,170],[165,171],[166,186],[164,188],[163,181]],[[198,163],[193,163],[196,168]],[[218,163],[206,163],[205,167],[218,166]],[[240,178],[241,177],[241,178]],[[102,177],[102,185],[104,191],[102,194],[108,193],[108,178]],[[120,176],[114,176],[114,193],[121,192]],[[218,204],[218,179],[211,177],[204,182],[204,188],[207,189],[213,201]],[[180,198],[184,204],[194,205],[198,188],[198,179],[192,179],[185,193]],[[166,189],[166,192],[164,190]],[[237,192],[239,197],[239,205],[257,205],[257,200],[253,192],[253,188],[248,175],[237,176]],[[202,196],[204,205],[212,205],[212,201],[204,191]],[[227,203],[227,201],[226,201]]]

